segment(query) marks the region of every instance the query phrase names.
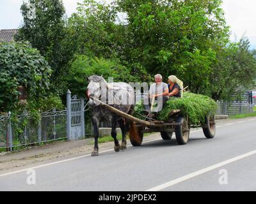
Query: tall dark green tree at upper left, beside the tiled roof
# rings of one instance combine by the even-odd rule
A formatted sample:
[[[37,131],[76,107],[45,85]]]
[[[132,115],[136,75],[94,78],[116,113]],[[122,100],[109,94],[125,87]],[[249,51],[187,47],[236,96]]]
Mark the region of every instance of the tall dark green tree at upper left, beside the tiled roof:
[[[23,24],[15,40],[29,41],[33,48],[40,51],[53,69],[52,91],[61,84],[61,77],[67,71],[67,63],[72,59],[72,47],[67,44],[65,29],[65,8],[62,0],[31,0],[35,4],[35,16],[29,16],[29,7],[23,3]]]

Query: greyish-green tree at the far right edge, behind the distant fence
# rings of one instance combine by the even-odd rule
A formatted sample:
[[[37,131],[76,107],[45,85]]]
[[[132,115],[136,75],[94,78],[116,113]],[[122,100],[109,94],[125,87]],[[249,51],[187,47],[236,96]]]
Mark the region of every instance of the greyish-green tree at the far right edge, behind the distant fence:
[[[212,72],[212,98],[229,100],[232,94],[255,86],[256,59],[249,47],[248,39],[242,38],[218,52]]]

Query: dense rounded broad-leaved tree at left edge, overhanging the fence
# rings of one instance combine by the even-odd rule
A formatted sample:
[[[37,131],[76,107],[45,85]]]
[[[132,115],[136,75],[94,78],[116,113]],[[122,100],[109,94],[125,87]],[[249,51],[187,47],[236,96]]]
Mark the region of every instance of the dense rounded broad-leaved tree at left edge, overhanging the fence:
[[[51,68],[29,43],[0,43],[0,110],[8,112],[18,101],[18,86],[29,98],[39,98],[49,89]]]

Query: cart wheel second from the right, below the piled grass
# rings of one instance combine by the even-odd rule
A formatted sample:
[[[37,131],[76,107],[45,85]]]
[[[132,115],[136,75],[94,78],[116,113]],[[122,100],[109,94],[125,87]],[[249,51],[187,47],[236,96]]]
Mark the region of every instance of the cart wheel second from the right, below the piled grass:
[[[185,145],[189,140],[190,125],[188,119],[180,116],[176,122],[180,122],[180,125],[175,126],[175,136],[179,145]]]

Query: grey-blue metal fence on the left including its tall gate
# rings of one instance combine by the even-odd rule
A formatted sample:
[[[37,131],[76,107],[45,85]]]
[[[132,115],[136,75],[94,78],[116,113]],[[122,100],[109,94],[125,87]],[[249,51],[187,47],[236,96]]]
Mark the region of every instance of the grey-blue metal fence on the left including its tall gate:
[[[67,94],[67,108],[52,108],[40,113],[39,120],[33,119],[25,110],[22,115],[11,117],[12,113],[0,115],[0,150],[54,140],[78,140],[92,135],[92,123],[88,109],[84,110],[84,99]],[[69,132],[68,132],[69,131]]]

